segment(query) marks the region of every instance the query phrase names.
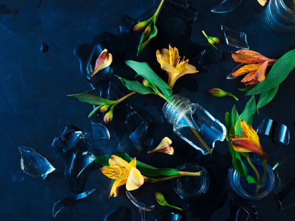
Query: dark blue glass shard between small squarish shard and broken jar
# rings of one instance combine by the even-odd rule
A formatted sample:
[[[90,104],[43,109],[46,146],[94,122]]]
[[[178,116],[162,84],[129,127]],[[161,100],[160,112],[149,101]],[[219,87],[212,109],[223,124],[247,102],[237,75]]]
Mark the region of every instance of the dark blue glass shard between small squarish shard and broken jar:
[[[144,148],[144,141],[147,135],[148,126],[148,121],[142,122],[142,124],[139,125],[139,127],[129,136],[131,142],[138,150],[142,150]]]

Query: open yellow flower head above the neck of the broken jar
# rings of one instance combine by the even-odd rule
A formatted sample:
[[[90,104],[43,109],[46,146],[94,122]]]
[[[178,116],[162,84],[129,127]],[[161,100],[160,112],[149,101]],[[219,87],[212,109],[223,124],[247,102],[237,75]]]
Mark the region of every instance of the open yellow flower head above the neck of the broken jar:
[[[162,70],[168,73],[167,84],[171,88],[181,76],[199,72],[195,66],[188,64],[188,59],[184,60],[185,57],[180,60],[178,49],[171,45],[169,45],[169,50],[166,48],[157,50],[156,56]]]

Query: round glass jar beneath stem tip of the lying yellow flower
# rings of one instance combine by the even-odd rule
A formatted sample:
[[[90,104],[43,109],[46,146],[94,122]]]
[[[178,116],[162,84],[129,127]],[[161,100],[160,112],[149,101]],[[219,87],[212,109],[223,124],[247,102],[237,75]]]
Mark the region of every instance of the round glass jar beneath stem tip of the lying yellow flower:
[[[201,176],[181,176],[177,178],[174,185],[174,192],[181,199],[197,199],[207,193],[210,185],[210,177],[203,166],[188,163],[177,169],[190,172],[202,171]]]

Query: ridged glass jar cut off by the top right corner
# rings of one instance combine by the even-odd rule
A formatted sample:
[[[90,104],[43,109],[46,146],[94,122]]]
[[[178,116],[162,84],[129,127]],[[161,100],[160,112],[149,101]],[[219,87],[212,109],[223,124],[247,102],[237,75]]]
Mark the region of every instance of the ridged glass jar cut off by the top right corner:
[[[277,32],[295,31],[293,0],[270,0],[266,6],[265,18],[268,25]]]

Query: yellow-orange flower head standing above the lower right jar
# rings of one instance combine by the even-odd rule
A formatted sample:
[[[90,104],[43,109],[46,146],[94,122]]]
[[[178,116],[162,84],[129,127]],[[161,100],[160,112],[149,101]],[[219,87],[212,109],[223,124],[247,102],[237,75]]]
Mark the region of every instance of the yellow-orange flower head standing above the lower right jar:
[[[266,153],[262,149],[259,137],[255,130],[243,119],[240,120],[239,124],[242,130],[241,137],[236,136],[236,138],[232,138],[231,140],[234,149],[237,152],[255,152],[263,159],[266,159]]]

